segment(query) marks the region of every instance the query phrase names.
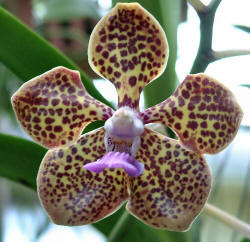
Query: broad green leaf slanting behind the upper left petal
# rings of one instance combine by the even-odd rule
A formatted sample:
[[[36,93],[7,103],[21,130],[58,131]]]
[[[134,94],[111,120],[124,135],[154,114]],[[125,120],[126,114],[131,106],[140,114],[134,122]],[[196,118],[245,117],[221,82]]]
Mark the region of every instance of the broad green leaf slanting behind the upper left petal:
[[[56,66],[79,70],[90,95],[111,106],[92,81],[69,58],[0,7],[0,61],[28,81]]]

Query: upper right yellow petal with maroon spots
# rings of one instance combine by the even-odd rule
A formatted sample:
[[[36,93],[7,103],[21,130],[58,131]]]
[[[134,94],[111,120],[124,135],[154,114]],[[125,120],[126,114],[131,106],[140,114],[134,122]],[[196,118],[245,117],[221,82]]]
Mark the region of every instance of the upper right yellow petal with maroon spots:
[[[202,73],[188,75],[170,98],[142,114],[145,123],[164,123],[186,147],[210,154],[230,144],[242,117],[232,92]]]

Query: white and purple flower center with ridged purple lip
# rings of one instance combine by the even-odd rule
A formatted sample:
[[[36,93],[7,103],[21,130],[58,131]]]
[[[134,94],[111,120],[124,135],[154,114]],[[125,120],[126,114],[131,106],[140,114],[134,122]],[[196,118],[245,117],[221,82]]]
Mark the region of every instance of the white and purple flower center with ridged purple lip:
[[[96,173],[105,168],[122,168],[129,176],[141,175],[144,165],[134,157],[141,144],[144,125],[137,114],[129,107],[122,107],[106,121],[104,129],[104,144],[108,153],[84,167]]]

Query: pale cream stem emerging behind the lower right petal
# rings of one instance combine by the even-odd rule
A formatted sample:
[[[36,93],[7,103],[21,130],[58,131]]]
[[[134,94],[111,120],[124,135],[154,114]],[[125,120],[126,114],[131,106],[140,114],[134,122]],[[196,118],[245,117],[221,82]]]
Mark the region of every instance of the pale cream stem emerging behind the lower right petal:
[[[227,212],[208,203],[205,205],[203,213],[220,220],[247,238],[250,238],[250,225],[232,216],[231,214],[228,214]]]

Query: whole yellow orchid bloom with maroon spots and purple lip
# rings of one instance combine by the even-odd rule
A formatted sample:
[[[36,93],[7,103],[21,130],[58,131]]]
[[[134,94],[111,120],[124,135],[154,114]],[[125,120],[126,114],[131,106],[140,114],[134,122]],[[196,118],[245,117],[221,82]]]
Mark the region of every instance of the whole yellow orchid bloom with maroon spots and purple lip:
[[[242,111],[233,94],[202,73],[188,75],[172,96],[139,111],[142,89],[165,69],[168,44],[156,19],[138,3],[117,4],[97,24],[89,63],[118,92],[114,111],[85,90],[79,72],[56,67],[12,97],[25,131],[49,148],[38,194],[52,221],[94,223],[117,210],[162,229],[189,228],[207,201],[211,173],[203,154],[224,149]],[[84,127],[102,128],[80,136]],[[162,123],[179,140],[145,125]]]

